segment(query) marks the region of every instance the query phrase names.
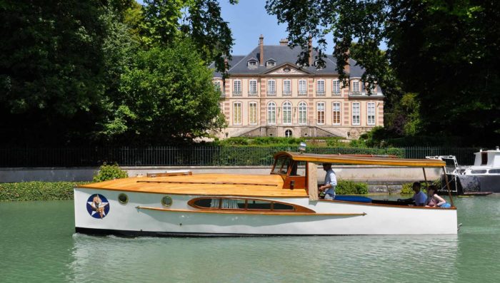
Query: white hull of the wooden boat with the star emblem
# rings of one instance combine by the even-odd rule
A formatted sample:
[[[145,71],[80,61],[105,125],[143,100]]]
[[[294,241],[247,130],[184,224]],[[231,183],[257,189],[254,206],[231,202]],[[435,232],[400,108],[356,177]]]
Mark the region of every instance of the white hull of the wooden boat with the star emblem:
[[[422,235],[456,234],[455,209],[398,207],[339,201],[312,201],[307,197],[262,200],[287,202],[316,213],[203,212],[187,204],[198,195],[169,195],[172,205],[161,205],[164,195],[75,188],[76,232],[121,235],[251,236],[251,235]],[[103,217],[87,204],[93,195],[106,198]],[[204,195],[203,197],[206,197]],[[94,215],[92,215],[94,213]]]

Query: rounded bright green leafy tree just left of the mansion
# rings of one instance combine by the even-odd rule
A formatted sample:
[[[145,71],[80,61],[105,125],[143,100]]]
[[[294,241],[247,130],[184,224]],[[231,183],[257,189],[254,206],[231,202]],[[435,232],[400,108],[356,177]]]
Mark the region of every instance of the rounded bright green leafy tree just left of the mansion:
[[[187,39],[140,51],[121,78],[106,133],[117,143],[148,145],[208,136],[224,125],[211,76]]]

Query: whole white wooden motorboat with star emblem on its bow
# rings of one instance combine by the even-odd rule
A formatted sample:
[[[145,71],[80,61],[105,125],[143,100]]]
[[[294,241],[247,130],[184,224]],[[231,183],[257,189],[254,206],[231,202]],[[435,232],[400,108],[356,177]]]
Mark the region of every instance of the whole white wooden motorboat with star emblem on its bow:
[[[123,236],[456,234],[456,207],[318,194],[320,163],[441,168],[442,160],[279,152],[269,175],[155,173],[78,185],[75,230]]]

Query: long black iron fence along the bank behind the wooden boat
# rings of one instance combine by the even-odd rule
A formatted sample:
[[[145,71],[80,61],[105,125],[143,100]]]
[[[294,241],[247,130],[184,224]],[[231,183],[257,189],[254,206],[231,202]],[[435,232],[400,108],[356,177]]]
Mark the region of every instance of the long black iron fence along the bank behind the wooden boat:
[[[295,147],[149,147],[149,148],[0,148],[1,168],[121,166],[271,165],[274,153]],[[397,155],[425,158],[455,155],[460,165],[474,163],[477,148],[307,148],[308,153]]]

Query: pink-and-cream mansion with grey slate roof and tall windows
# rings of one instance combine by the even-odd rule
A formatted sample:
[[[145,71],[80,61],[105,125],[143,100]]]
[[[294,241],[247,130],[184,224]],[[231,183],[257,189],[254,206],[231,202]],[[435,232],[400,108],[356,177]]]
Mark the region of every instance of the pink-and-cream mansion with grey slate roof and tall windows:
[[[228,62],[229,77],[214,72],[221,91],[221,110],[228,127],[220,138],[239,136],[358,138],[384,125],[384,95],[377,86],[369,96],[361,81],[363,69],[349,59],[345,71],[349,86],[342,86],[335,58],[324,58],[316,68],[309,50],[309,66],[297,66],[300,48],[288,41],[259,46]],[[213,66],[211,66],[213,68]]]

